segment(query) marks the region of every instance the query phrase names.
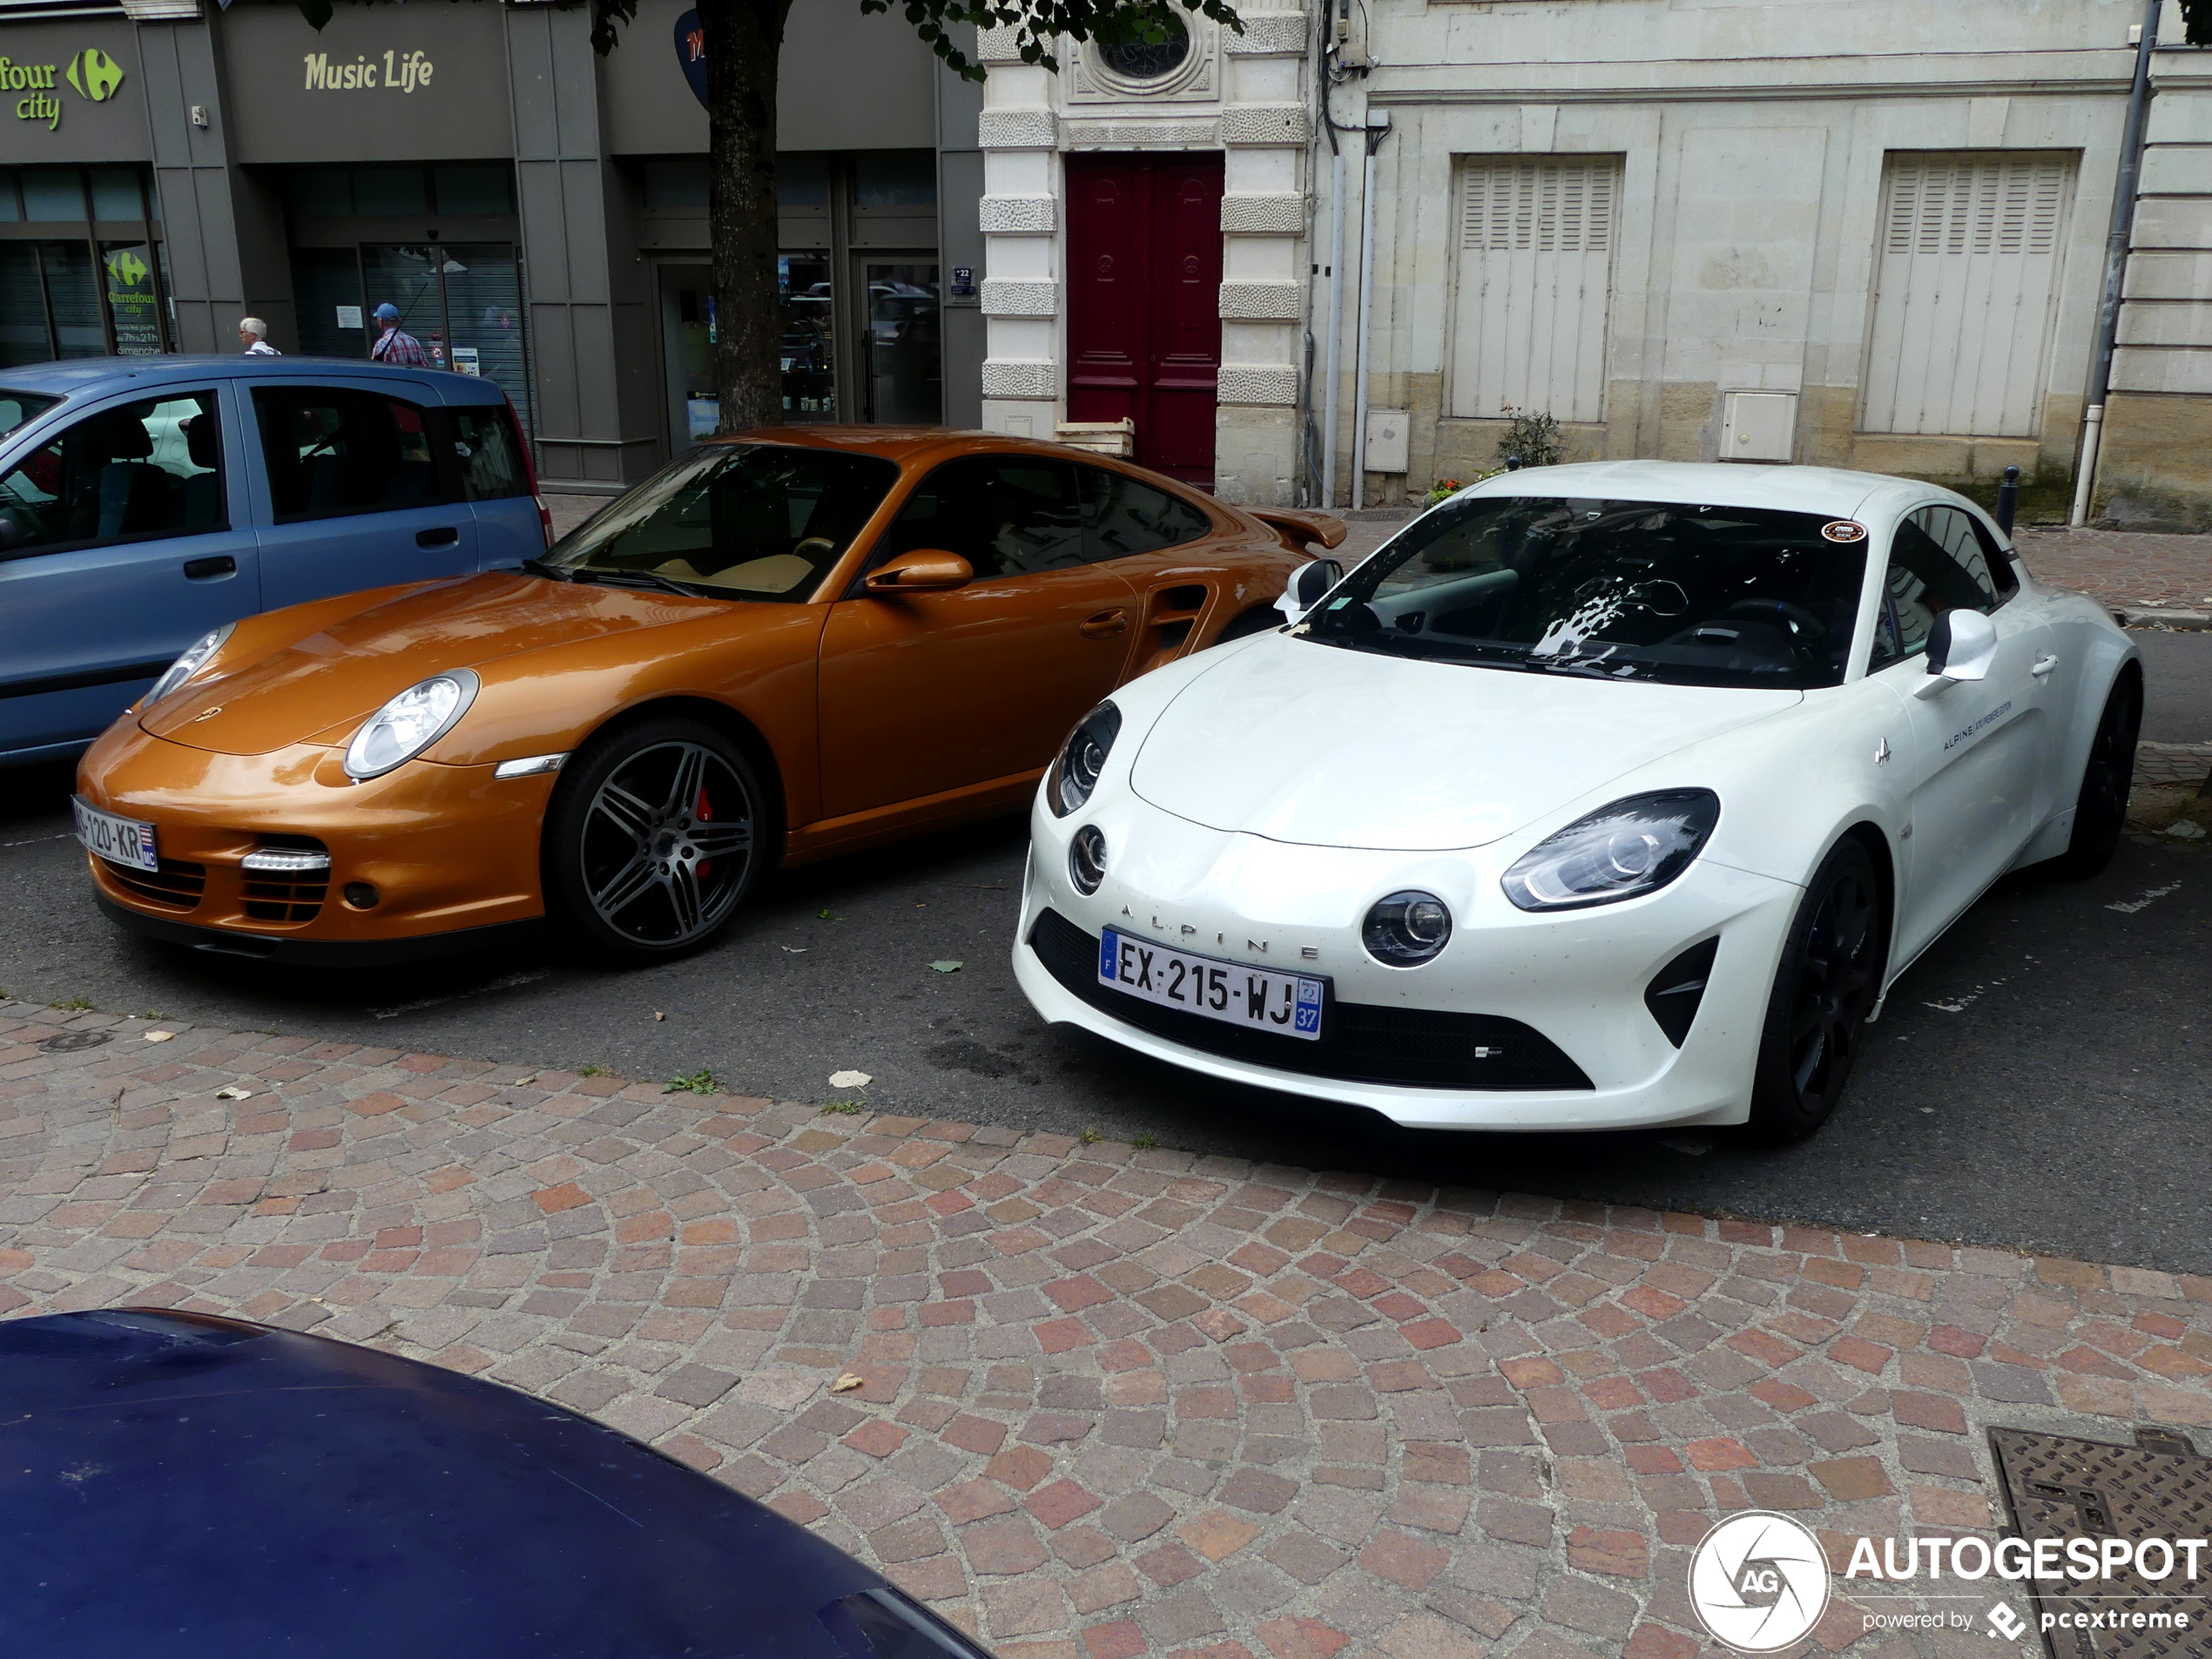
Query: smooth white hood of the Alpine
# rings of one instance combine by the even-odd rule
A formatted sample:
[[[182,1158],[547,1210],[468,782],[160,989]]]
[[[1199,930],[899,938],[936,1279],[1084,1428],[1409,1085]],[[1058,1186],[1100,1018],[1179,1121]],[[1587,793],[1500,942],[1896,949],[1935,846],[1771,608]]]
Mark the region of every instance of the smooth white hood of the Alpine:
[[[1183,686],[1144,734],[1130,787],[1179,818],[1270,841],[1480,847],[1798,701],[1794,690],[1405,661],[1279,635]]]

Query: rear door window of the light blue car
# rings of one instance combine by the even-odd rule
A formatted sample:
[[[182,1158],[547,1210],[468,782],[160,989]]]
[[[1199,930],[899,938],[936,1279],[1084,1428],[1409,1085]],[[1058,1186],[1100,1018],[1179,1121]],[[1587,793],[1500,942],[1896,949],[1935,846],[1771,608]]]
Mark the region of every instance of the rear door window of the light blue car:
[[[396,513],[451,498],[425,411],[383,392],[254,387],[279,524]]]

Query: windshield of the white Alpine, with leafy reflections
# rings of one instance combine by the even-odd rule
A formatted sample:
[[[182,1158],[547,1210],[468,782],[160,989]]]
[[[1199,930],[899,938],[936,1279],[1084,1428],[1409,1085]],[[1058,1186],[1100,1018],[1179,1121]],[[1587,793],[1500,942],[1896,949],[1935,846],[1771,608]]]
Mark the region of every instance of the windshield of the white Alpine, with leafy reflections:
[[[1475,495],[1427,513],[1307,617],[1329,646],[1674,686],[1843,679],[1867,551],[1820,513]]]

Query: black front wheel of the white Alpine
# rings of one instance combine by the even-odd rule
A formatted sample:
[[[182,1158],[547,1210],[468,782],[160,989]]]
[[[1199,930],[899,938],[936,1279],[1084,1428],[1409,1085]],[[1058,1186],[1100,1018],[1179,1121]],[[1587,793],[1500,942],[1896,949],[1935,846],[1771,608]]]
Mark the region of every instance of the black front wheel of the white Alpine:
[[[1882,989],[1882,891],[1860,841],[1843,841],[1805,887],[1767,1000],[1743,1137],[1803,1141],[1843,1099]]]

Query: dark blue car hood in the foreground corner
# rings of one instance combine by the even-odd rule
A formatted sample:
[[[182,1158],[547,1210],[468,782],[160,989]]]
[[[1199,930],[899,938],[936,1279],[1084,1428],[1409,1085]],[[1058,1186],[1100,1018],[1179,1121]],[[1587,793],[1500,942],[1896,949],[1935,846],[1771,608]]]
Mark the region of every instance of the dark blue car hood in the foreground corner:
[[[883,1584],[513,1389],[164,1312],[0,1325],[0,1562],[9,1659],[847,1659]]]

